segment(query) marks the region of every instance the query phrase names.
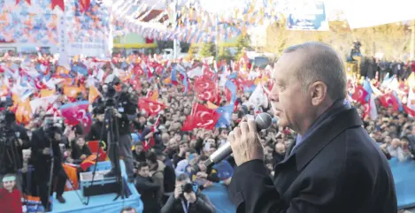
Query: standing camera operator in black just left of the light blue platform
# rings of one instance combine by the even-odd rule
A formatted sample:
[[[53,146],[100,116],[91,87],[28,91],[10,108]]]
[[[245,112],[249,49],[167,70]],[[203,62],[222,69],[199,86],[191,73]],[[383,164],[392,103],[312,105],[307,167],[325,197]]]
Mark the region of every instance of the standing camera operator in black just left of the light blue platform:
[[[48,197],[50,186],[54,186],[53,179],[58,179],[56,191],[57,200],[65,203],[64,194],[66,175],[62,167],[62,154],[59,143],[62,141],[61,124],[55,123],[51,115],[46,115],[40,128],[32,133],[32,158],[35,167],[35,179],[39,186],[39,195],[42,205],[49,209]],[[50,149],[51,148],[51,149]],[[53,171],[51,162],[53,157]],[[53,172],[50,176],[50,172]],[[50,179],[51,177],[51,179]],[[50,184],[50,186],[48,186]],[[50,190],[51,193],[51,190]]]

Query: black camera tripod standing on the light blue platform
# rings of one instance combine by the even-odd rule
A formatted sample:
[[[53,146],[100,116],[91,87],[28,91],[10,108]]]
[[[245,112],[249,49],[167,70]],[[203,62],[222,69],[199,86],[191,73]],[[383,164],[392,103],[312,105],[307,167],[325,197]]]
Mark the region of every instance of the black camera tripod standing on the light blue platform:
[[[121,196],[121,199],[127,198],[127,191],[125,189],[124,186],[124,181],[122,179],[122,175],[121,175],[121,167],[119,165],[119,126],[118,126],[118,122],[114,116],[114,110],[115,108],[113,106],[107,106],[105,111],[104,111],[104,125],[102,128],[102,132],[101,132],[101,140],[104,138],[104,133],[105,130],[107,130],[107,142],[108,143],[108,153],[111,159],[111,171],[110,172],[114,172],[114,175],[116,177],[116,181],[119,184],[119,193],[117,194],[117,196],[114,198],[113,201],[116,201],[119,196]],[[98,150],[97,153],[99,152],[99,148],[101,148],[101,143],[98,143]],[[98,163],[98,156],[96,156],[96,165]],[[94,182],[96,176],[96,166],[94,167],[94,171],[92,171],[92,179],[91,179],[91,185]],[[88,202],[89,202],[89,197],[88,197]],[[87,202],[87,205],[88,205]]]

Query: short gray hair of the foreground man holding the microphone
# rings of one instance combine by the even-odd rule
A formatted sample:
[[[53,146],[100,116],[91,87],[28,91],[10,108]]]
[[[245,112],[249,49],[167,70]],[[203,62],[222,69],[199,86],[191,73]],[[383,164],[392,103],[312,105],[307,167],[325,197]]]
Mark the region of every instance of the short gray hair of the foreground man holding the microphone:
[[[303,84],[303,91],[314,82],[322,81],[327,85],[327,94],[333,100],[344,99],[347,94],[347,77],[344,65],[337,52],[322,42],[305,42],[285,49],[283,53],[303,50],[306,60],[296,78]]]

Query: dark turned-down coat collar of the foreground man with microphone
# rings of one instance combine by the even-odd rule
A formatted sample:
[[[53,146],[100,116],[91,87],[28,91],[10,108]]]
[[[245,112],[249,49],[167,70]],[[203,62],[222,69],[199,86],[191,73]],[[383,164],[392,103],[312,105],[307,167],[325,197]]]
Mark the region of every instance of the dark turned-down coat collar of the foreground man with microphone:
[[[319,126],[314,133],[304,140],[304,144],[296,150],[294,156],[296,156],[297,171],[301,171],[314,156],[319,154],[321,149],[325,148],[340,133],[346,129],[362,125],[362,118],[360,118],[355,108],[343,110],[334,115],[332,120],[323,126]],[[292,156],[288,158],[290,157]]]

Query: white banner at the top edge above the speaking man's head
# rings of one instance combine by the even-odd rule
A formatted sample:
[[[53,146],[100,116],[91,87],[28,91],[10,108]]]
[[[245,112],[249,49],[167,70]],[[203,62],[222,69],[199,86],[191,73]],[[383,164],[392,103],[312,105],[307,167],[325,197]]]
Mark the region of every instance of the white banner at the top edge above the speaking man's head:
[[[321,0],[290,1],[287,28],[292,30],[328,30],[326,7]]]

